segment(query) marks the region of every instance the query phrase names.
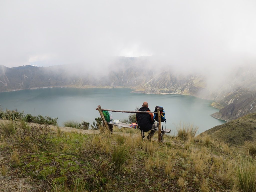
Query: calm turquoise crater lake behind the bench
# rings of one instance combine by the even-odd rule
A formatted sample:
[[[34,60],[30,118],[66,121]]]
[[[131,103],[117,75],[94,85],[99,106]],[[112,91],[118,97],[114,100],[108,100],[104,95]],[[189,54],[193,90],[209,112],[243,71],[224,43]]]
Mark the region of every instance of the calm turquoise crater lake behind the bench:
[[[204,132],[225,121],[215,119],[210,114],[218,109],[210,106],[212,101],[188,95],[157,95],[130,93],[127,88],[113,89],[76,89],[76,88],[44,88],[20,90],[0,93],[0,108],[25,111],[25,114],[58,117],[58,124],[67,120],[92,123],[99,112],[98,105],[103,109],[134,111],[147,101],[151,111],[156,105],[163,106],[166,112],[166,128],[177,133],[175,125],[180,123],[198,126],[198,133]],[[127,118],[129,113],[112,112],[113,119]],[[165,123],[163,124],[165,126]]]

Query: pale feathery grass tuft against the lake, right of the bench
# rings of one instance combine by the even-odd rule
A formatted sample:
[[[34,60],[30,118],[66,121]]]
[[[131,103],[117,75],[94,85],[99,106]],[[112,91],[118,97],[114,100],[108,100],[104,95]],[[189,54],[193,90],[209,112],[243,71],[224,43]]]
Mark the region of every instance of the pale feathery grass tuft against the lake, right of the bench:
[[[184,141],[187,141],[189,138],[194,138],[196,133],[197,133],[197,130],[198,130],[198,127],[194,127],[193,125],[185,125],[183,124],[183,126],[181,125],[181,123],[177,126],[176,125],[176,129],[177,129],[177,132],[178,132],[178,137]]]

